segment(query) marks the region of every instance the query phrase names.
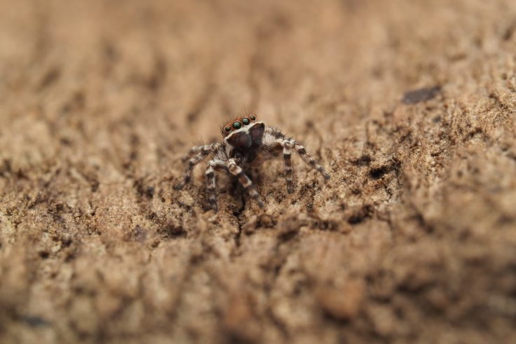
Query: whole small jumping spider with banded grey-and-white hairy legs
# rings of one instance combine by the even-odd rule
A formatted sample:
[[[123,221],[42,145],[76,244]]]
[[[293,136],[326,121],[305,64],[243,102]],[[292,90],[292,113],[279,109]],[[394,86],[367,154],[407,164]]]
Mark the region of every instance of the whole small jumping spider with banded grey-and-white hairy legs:
[[[264,202],[244,171],[251,165],[259,163],[263,158],[276,157],[281,153],[283,153],[285,165],[287,192],[294,192],[292,188],[292,149],[297,151],[306,164],[318,170],[326,180],[330,179],[330,174],[327,174],[325,169],[306,152],[303,145],[276,128],[266,127],[262,121],[257,121],[254,113],[229,121],[222,126],[221,133],[224,137],[222,142],[192,147],[188,155],[183,158],[183,161],[189,159],[184,178],[174,187],[176,190],[181,190],[191,180],[191,172],[194,167],[201,163],[206,156],[211,155],[212,159],[206,167],[206,179],[208,200],[215,212],[218,211],[215,172],[229,172],[238,178],[240,184],[262,208]]]

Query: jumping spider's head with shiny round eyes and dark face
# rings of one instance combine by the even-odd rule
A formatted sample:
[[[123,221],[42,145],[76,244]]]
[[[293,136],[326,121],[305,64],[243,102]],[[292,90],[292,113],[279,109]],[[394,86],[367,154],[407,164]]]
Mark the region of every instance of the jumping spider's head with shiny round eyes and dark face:
[[[262,144],[265,125],[257,122],[256,115],[251,114],[237,118],[222,127],[225,141],[236,149],[250,149]]]

